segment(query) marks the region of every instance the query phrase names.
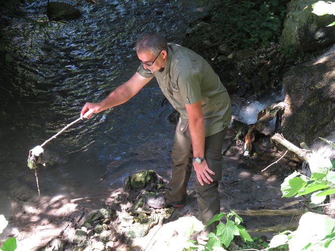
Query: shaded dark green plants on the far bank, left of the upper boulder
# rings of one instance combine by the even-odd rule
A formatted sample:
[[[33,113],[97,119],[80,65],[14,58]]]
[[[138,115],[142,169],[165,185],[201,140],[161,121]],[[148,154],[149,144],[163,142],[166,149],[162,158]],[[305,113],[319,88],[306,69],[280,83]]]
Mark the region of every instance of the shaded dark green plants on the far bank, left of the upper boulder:
[[[208,11],[215,13],[209,26],[197,29],[194,35],[186,38],[185,44],[196,51],[203,51],[215,43],[227,44],[236,50],[268,46],[280,38],[288,2],[219,1]]]

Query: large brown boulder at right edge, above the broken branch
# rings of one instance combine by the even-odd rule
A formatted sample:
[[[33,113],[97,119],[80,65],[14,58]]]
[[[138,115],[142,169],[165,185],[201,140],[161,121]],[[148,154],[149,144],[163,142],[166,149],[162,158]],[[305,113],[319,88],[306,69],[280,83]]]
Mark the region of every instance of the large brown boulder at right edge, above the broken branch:
[[[282,129],[293,144],[312,145],[335,128],[335,46],[314,61],[292,68],[283,78]]]

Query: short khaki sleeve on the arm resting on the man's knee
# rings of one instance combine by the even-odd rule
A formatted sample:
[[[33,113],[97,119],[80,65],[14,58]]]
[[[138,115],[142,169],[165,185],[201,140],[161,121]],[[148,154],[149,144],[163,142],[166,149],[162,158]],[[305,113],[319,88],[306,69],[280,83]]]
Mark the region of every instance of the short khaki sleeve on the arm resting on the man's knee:
[[[200,88],[201,73],[195,69],[185,69],[180,73],[177,85],[185,104],[202,99]]]

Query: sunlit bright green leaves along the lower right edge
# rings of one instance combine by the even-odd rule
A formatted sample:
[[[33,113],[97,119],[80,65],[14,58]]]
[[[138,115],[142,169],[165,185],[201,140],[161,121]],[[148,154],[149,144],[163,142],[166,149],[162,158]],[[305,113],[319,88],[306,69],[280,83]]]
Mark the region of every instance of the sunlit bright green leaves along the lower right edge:
[[[321,139],[335,148],[335,144],[332,141],[324,138]],[[335,167],[334,160],[330,161],[325,158],[324,161],[320,162],[320,156],[313,154],[311,153],[312,158],[309,162],[311,177],[296,171],[286,177],[284,183],[281,185],[283,197],[311,195],[311,203],[320,204],[326,199],[327,195],[335,194],[335,172],[332,171]],[[305,226],[305,222],[308,221],[309,219],[303,216],[300,219],[299,225],[304,224]],[[322,224],[318,223],[315,227],[317,228],[317,240],[307,240],[307,244],[303,247],[304,250],[321,250],[327,248],[335,240],[335,224],[331,218],[327,217]],[[286,231],[276,235],[271,240],[270,247],[285,244],[289,239],[299,237],[301,234],[299,235],[298,231],[299,228],[294,232]],[[304,238],[306,243],[306,236],[301,238]],[[301,239],[301,242],[304,243],[303,239]]]

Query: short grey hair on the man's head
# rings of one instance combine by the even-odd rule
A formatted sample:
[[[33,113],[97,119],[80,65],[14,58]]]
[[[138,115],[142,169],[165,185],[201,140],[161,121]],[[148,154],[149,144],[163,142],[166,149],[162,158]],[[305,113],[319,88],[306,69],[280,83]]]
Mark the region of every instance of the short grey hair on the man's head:
[[[138,53],[147,50],[152,53],[159,53],[162,49],[168,51],[168,44],[165,38],[156,31],[145,31],[139,35],[136,41],[136,51]]]

